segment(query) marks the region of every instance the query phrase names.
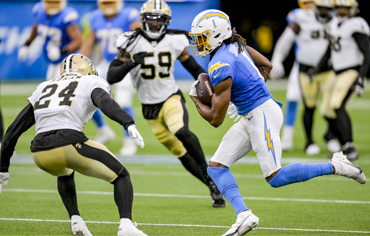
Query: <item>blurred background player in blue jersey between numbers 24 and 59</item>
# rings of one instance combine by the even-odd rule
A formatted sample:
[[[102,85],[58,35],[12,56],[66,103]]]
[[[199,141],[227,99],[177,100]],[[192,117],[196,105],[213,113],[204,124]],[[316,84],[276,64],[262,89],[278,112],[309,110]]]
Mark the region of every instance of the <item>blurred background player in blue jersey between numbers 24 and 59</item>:
[[[123,7],[122,0],[98,0],[98,9],[91,11],[86,17],[85,30],[88,31],[87,38],[81,46],[81,54],[91,56],[95,43],[98,43],[98,53],[101,55],[97,63],[99,76],[107,80],[108,68],[114,57],[117,55],[115,42],[118,35],[126,31],[140,28],[139,11],[131,7]],[[86,32],[84,32],[86,34]],[[95,58],[98,55],[94,55]],[[127,75],[129,77],[129,75]],[[131,79],[127,78],[117,83],[112,88],[114,100],[121,108],[135,118],[134,107],[132,106],[135,94]],[[135,155],[137,146],[130,138],[127,131],[122,128],[124,139],[120,154],[124,156]]]

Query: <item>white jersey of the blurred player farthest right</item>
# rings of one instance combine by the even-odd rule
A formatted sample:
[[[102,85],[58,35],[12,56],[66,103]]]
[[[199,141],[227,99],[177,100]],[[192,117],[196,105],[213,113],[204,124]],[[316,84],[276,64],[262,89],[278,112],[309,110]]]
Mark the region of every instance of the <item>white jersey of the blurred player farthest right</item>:
[[[362,65],[364,55],[352,35],[361,33],[369,36],[369,24],[361,17],[351,17],[342,24],[334,17],[328,24],[333,69],[339,71]]]

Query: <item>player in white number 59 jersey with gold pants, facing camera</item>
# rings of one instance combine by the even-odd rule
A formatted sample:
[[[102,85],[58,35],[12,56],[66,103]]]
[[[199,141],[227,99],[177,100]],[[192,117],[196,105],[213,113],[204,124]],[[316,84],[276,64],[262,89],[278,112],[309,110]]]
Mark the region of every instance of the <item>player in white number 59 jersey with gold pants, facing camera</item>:
[[[221,192],[207,174],[199,140],[189,130],[185,99],[174,77],[176,60],[195,79],[205,70],[190,56],[188,33],[167,29],[171,9],[165,1],[146,1],[140,9],[140,21],[140,29],[118,37],[119,51],[109,68],[108,82],[117,83],[127,73],[131,74],[144,118],[154,135],[190,173],[208,186],[213,207],[224,207]]]

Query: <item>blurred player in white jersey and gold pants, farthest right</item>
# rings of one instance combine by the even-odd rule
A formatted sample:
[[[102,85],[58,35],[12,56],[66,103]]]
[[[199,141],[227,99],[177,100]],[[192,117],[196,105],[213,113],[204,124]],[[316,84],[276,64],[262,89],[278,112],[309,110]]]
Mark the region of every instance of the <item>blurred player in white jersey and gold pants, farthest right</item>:
[[[359,153],[353,144],[352,125],[345,105],[353,91],[362,95],[363,81],[370,66],[370,28],[362,17],[356,16],[358,12],[356,0],[335,0],[336,17],[328,23],[329,50],[319,66],[310,72],[321,72],[331,59],[335,74],[326,106],[335,110],[336,118],[328,121],[349,160],[356,160]]]

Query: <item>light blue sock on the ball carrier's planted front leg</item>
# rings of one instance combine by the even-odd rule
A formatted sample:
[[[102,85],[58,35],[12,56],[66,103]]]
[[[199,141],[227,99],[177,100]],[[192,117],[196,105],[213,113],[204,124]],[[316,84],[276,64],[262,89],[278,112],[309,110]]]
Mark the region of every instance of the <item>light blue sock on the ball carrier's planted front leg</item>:
[[[212,178],[213,182],[215,182],[223,197],[225,197],[234,208],[236,215],[242,211],[248,210],[248,207],[245,205],[240,195],[238,184],[229,168],[209,166],[207,168],[207,173],[209,177]]]

